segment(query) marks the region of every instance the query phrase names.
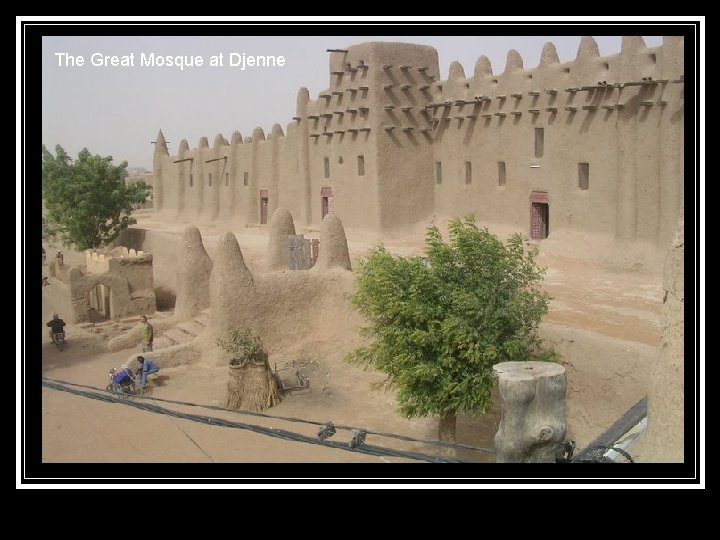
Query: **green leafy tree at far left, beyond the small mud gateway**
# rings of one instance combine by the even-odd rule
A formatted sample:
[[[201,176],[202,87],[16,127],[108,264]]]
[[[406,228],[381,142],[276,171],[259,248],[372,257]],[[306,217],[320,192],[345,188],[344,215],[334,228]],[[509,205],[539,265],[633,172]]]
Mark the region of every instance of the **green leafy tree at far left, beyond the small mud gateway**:
[[[136,223],[133,205],[152,191],[144,182],[126,185],[127,162],[112,164],[112,156],[92,155],[83,148],[72,160],[62,146],[55,155],[43,145],[42,192],[48,221],[56,224],[65,245],[79,251],[115,240]]]

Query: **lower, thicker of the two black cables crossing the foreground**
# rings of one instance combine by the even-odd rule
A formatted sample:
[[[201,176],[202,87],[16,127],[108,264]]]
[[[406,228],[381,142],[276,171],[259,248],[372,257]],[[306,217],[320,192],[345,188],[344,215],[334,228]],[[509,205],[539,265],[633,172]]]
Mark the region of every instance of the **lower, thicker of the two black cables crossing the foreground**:
[[[207,416],[199,416],[199,415],[188,414],[188,413],[181,413],[179,411],[174,411],[172,409],[166,409],[166,408],[160,407],[159,405],[154,405],[154,404],[149,404],[149,403],[138,403],[136,401],[131,401],[131,400],[117,397],[113,394],[105,393],[103,390],[101,390],[101,392],[103,392],[103,393],[97,394],[94,392],[86,392],[84,390],[68,388],[63,383],[52,381],[45,377],[43,377],[42,385],[46,388],[50,388],[53,390],[60,390],[63,392],[68,392],[71,394],[87,397],[90,399],[104,401],[106,403],[121,403],[123,405],[129,405],[131,407],[135,407],[140,410],[153,412],[153,413],[157,413],[157,414],[166,414],[168,416],[173,416],[175,418],[181,418],[184,420],[191,420],[193,422],[200,422],[200,423],[204,423],[204,424],[222,426],[222,427],[245,429],[248,431],[252,431],[254,433],[260,433],[263,435],[269,435],[271,437],[277,437],[279,439],[295,441],[295,442],[304,442],[304,443],[308,443],[308,444],[316,444],[316,445],[320,445],[320,446],[336,448],[336,449],[345,450],[345,451],[349,451],[349,452],[360,452],[363,454],[368,454],[368,455],[373,455],[373,456],[402,457],[402,458],[414,459],[414,460],[419,460],[419,461],[427,461],[430,463],[473,463],[472,461],[464,460],[461,458],[453,458],[453,457],[449,457],[449,456],[433,456],[433,455],[423,454],[423,453],[419,453],[419,452],[404,452],[404,451],[392,450],[390,448],[384,448],[384,447],[380,447],[380,446],[367,445],[367,444],[361,444],[359,446],[356,446],[355,448],[350,448],[345,443],[339,443],[339,442],[333,442],[333,441],[327,441],[327,440],[321,441],[320,439],[315,438],[315,437],[309,437],[307,435],[302,435],[300,433],[294,433],[292,431],[287,431],[287,430],[280,429],[280,428],[266,428],[266,427],[258,426],[255,424],[246,424],[243,422],[234,422],[231,420],[225,420],[223,418],[207,417]],[[74,385],[74,386],[81,386],[81,385]],[[82,386],[84,386],[84,385],[82,385]],[[92,387],[90,387],[90,388],[92,388]]]

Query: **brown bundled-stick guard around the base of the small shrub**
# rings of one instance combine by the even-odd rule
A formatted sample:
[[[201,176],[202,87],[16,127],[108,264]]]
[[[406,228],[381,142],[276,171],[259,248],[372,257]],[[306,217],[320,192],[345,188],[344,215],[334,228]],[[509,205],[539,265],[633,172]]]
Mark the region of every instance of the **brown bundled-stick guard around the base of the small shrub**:
[[[282,401],[267,360],[254,364],[230,365],[228,374],[228,409],[263,411]]]

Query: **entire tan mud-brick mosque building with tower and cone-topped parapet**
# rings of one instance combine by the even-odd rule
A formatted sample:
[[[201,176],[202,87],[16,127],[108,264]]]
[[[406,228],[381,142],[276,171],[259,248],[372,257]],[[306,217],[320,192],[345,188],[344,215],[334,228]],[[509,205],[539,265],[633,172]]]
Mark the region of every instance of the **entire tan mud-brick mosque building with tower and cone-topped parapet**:
[[[353,45],[330,52],[327,90],[298,91],[285,131],[183,140],[176,155],[159,133],[155,209],[239,227],[283,207],[301,226],[330,212],[377,232],[473,213],[532,236],[535,202],[547,205],[538,240],[570,231],[664,249],[683,200],[683,89],[681,37],[625,37],[607,57],[585,37],[563,64],[548,43],[534,69],[511,50],[498,75],[481,56],[471,77],[454,62],[446,80],[432,47]]]

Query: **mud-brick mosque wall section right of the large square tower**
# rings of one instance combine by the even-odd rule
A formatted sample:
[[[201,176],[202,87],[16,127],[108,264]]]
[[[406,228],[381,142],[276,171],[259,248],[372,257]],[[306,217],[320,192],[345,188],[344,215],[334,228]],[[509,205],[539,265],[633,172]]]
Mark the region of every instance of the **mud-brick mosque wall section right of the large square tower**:
[[[453,64],[431,105],[436,212],[528,231],[529,199],[542,192],[548,237],[669,245],[683,199],[682,55],[678,37],[655,48],[625,37],[608,57],[583,38],[564,64],[551,43],[535,69],[516,51],[499,75],[485,57],[470,78]]]

